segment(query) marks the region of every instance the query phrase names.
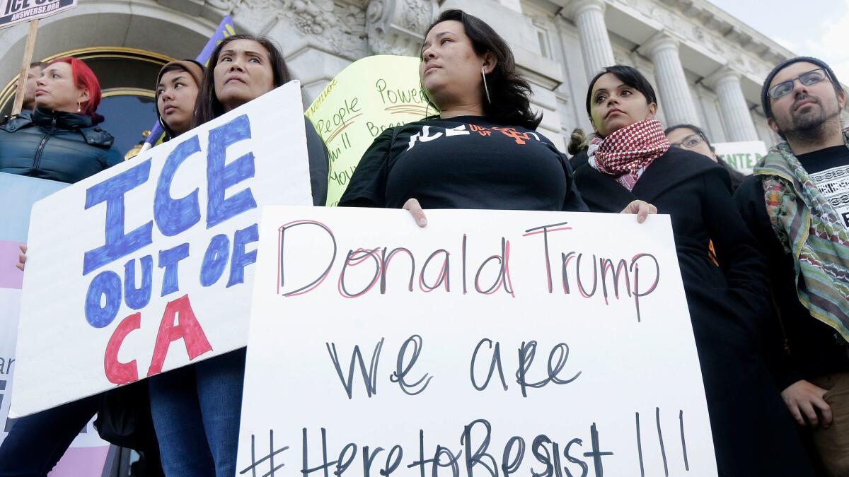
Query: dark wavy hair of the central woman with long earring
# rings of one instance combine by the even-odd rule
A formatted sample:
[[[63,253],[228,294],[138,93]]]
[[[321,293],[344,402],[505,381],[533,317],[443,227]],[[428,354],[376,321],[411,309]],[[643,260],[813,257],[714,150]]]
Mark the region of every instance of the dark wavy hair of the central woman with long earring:
[[[540,121],[543,121],[543,115],[534,114],[531,110],[531,85],[516,72],[516,61],[507,42],[483,20],[455,8],[439,14],[439,18],[430,24],[424,35],[427,36],[434,26],[448,20],[463,24],[463,30],[469,36],[475,53],[482,55],[489,52],[495,56],[495,68],[486,75],[490,96],[489,101],[483,102],[486,119],[505,126],[537,129]]]

